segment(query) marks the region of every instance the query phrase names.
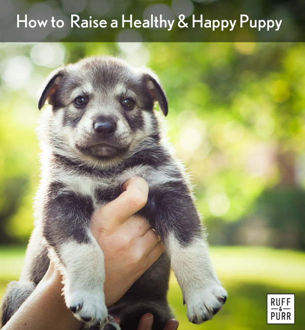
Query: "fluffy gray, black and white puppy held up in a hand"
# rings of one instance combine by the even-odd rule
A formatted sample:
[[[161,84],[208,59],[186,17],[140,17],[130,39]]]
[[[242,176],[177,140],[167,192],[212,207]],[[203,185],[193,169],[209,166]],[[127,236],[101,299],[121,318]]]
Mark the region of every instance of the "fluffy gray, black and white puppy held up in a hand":
[[[166,300],[170,266],[181,287],[188,318],[207,321],[226,301],[208,255],[200,216],[187,176],[162,141],[155,102],[168,104],[158,78],[112,57],[90,57],[59,68],[39,100],[42,180],[36,227],[19,282],[2,305],[2,325],[35,289],[48,269],[48,254],[64,275],[67,306],[85,328],[137,328],[154,314],[154,329],[172,317]],[[153,226],[166,252],[109,311],[105,306],[104,257],[90,231],[95,210],[114,200],[132,177],[149,185],[139,212]],[[109,316],[109,314],[111,316]]]

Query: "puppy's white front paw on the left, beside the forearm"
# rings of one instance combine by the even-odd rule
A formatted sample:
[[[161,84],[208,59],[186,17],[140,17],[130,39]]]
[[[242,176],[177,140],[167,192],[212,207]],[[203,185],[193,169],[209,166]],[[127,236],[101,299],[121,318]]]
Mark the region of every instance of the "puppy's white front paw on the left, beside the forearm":
[[[74,316],[88,326],[100,326],[107,320],[108,311],[103,294],[73,292],[66,294],[66,304]]]

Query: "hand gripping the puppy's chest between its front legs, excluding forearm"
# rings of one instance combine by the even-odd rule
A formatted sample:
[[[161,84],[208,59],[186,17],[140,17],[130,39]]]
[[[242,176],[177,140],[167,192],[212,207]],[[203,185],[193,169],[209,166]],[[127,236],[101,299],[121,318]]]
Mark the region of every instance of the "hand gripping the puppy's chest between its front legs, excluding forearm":
[[[165,248],[147,221],[134,215],[145,206],[148,185],[132,178],[122,193],[92,216],[92,233],[105,258],[106,306],[117,302]]]

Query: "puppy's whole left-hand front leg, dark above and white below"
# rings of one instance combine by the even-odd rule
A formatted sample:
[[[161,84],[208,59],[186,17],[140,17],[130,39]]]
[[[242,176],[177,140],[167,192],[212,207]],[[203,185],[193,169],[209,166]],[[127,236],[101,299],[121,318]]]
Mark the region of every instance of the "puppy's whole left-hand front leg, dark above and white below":
[[[89,196],[58,191],[54,186],[49,192],[52,203],[43,209],[42,232],[51,257],[57,258],[64,275],[66,305],[88,327],[110,320],[112,329],[119,329],[108,317],[103,288],[104,255],[90,232],[93,202]]]

